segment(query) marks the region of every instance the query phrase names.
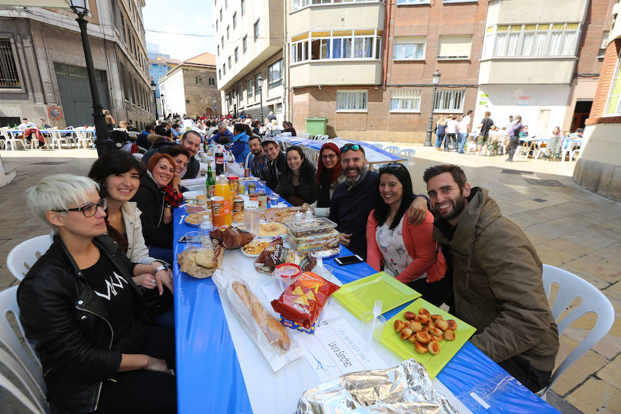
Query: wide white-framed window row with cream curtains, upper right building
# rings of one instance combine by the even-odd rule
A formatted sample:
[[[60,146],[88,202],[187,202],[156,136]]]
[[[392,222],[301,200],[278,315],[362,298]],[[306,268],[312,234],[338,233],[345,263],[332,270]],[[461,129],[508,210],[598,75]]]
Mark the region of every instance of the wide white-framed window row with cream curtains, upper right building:
[[[564,25],[564,27],[562,29],[554,28],[555,25],[559,24]],[[569,27],[569,25],[575,25],[576,27]],[[533,26],[535,26],[535,28],[533,28]],[[503,29],[506,27],[506,30],[498,30],[499,27]],[[513,30],[514,28],[515,30]],[[517,28],[520,28],[520,30],[517,30]],[[509,33],[517,35],[515,53],[509,50],[509,41],[504,41],[504,45],[498,41],[501,35],[503,35],[503,37],[508,37]],[[529,34],[533,34],[533,40],[531,41],[529,50],[523,50],[526,35]],[[561,43],[559,43],[558,46],[560,53],[551,53],[550,49],[553,45],[553,34],[560,34],[561,36]],[[575,21],[566,23],[525,23],[488,26],[486,28],[483,45],[483,59],[512,57],[575,57],[581,34],[582,23]],[[536,50],[538,35],[540,38],[545,37],[541,53]],[[573,39],[570,39],[570,36],[573,37]],[[571,41],[572,43],[566,44],[566,41]]]

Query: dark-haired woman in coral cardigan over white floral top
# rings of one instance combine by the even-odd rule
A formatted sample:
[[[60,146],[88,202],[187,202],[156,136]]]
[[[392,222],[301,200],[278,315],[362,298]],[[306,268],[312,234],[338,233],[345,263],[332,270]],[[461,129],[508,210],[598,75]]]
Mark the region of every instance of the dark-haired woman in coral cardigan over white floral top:
[[[433,240],[433,215],[418,226],[408,224],[406,212],[414,199],[412,179],[402,164],[380,168],[375,208],[366,223],[366,261],[407,284],[423,298],[440,306],[445,295],[442,280],[446,261]]]

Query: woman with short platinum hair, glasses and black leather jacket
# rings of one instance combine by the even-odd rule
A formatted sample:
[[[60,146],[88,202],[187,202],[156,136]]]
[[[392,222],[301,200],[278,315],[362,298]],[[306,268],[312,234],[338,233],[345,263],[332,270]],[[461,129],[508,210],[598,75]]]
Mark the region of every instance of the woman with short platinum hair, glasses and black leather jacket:
[[[152,274],[106,233],[95,181],[51,175],[26,193],[54,230],[17,290],[52,413],[175,413],[174,333],[155,324],[132,277]]]

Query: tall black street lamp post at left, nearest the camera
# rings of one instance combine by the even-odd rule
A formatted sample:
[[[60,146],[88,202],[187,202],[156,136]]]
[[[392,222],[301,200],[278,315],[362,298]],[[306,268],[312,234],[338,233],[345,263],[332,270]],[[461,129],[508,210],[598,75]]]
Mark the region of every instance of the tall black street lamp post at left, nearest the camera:
[[[84,19],[84,16],[88,14],[86,0],[71,0],[70,8],[78,16],[75,20],[80,27],[84,58],[86,59],[86,72],[88,73],[88,83],[90,85],[90,96],[92,97],[92,118],[95,124],[95,148],[97,148],[97,155],[101,157],[106,154],[106,152],[112,150],[112,141],[108,138],[108,126],[106,126],[106,118],[103,116],[101,101],[99,101],[95,66],[92,64],[90,42],[88,41],[88,33],[86,32],[86,23],[88,23],[86,19]]]

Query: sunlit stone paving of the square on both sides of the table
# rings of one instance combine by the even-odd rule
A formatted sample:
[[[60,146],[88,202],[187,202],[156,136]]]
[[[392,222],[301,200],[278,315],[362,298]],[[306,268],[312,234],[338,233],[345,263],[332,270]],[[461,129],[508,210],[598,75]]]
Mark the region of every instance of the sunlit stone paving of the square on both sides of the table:
[[[382,143],[386,145],[387,143]],[[477,157],[435,148],[391,143],[415,148],[408,164],[416,193],[426,193],[422,172],[428,166],[459,164],[469,183],[489,189],[502,213],[520,226],[537,248],[542,262],[569,270],[598,287],[615,308],[610,333],[571,366],[553,386],[548,401],[564,414],[621,412],[621,204],[584,190],[571,179],[575,163],[544,160],[504,162],[502,156]],[[79,152],[78,152],[79,151]],[[46,226],[31,217],[23,199],[29,186],[44,175],[57,172],[86,174],[93,150],[2,151],[3,162],[17,168],[17,177],[0,188],[0,290],[17,284],[6,269],[9,251],[37,235]],[[32,157],[36,155],[36,157]],[[39,164],[39,163],[62,164]],[[587,314],[561,336],[560,357],[571,352],[595,321]],[[1,372],[1,371],[0,371]],[[10,413],[26,409],[0,390],[0,406]]]

